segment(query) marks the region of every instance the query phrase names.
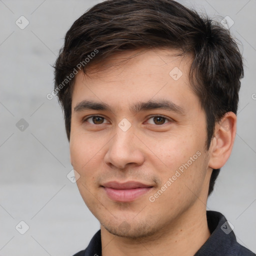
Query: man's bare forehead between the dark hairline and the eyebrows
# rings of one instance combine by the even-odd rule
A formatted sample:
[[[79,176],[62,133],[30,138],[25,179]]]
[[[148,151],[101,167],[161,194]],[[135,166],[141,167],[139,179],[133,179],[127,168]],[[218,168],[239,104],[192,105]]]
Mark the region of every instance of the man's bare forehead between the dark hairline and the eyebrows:
[[[129,50],[116,53],[84,74],[75,75],[72,109],[78,101],[148,101],[152,98],[183,101],[192,93],[189,55],[170,49]],[[194,95],[195,96],[195,95]],[[175,101],[174,100],[174,101]]]

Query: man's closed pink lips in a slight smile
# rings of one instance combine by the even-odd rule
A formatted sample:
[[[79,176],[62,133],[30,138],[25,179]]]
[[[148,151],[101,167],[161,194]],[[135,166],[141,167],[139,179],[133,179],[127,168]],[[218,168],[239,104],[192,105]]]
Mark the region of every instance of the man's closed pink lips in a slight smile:
[[[143,184],[136,181],[119,183],[110,181],[102,185],[106,195],[113,201],[129,202],[144,195],[152,189],[152,185]]]

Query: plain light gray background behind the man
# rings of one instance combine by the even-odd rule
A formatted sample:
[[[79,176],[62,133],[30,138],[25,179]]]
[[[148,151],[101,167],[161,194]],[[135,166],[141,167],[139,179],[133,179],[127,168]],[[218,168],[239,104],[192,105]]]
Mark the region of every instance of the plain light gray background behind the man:
[[[0,255],[72,255],[99,229],[76,184],[61,109],[53,88],[53,68],[67,29],[92,0],[0,0]],[[221,211],[238,241],[256,251],[255,0],[182,0],[230,28],[245,59],[232,154],[221,169],[207,209]],[[15,21],[24,15],[23,30]],[[255,98],[255,96],[254,96]],[[15,124],[24,118],[29,126]],[[25,221],[21,235],[15,226]],[[23,228],[23,227],[22,227]]]

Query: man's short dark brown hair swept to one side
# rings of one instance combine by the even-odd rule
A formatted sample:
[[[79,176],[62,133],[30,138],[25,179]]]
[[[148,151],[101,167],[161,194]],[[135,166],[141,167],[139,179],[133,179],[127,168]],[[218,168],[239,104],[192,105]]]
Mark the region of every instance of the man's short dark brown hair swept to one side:
[[[190,53],[191,88],[206,115],[209,148],[215,122],[232,111],[236,114],[242,57],[230,33],[220,23],[200,16],[174,0],[106,0],[96,4],[72,24],[55,62],[55,92],[64,111],[67,138],[70,137],[71,87],[63,81],[95,49],[99,52],[87,67],[113,53],[128,49],[179,49]],[[60,84],[61,86],[60,88]],[[220,169],[213,169],[208,195]]]

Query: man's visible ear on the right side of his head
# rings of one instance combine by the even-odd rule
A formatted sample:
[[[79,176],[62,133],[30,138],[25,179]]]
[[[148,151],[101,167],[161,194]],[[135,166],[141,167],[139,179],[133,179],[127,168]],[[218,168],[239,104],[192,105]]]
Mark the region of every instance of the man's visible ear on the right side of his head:
[[[236,133],[236,115],[227,112],[215,124],[214,137],[211,140],[208,166],[213,169],[222,167],[231,154]]]

